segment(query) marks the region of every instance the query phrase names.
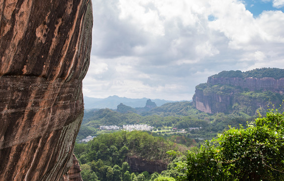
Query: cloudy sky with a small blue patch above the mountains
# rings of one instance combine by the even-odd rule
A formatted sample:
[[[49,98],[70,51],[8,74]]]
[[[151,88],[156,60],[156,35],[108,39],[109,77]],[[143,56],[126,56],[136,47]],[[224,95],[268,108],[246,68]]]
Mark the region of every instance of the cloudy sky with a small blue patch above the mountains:
[[[284,68],[284,0],[92,0],[83,95],[192,100],[223,70]]]

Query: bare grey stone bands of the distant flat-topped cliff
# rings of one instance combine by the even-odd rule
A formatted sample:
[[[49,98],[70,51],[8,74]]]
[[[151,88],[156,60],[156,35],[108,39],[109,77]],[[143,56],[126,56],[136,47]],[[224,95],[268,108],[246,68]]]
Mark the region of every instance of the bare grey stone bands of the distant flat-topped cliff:
[[[218,112],[222,113],[230,113],[232,112],[232,106],[234,103],[238,103],[241,106],[249,106],[252,109],[252,113],[258,108],[267,109],[266,100],[256,101],[253,103],[254,105],[250,105],[250,103],[240,102],[237,98],[237,93],[240,92],[241,89],[247,89],[249,91],[271,91],[274,93],[278,93],[280,95],[284,94],[284,78],[274,79],[272,77],[263,77],[263,78],[240,78],[240,77],[208,77],[207,84],[212,85],[233,85],[236,87],[231,93],[228,94],[217,94],[217,93],[204,93],[202,89],[196,89],[195,95],[193,97],[193,103],[195,107],[203,112],[215,114]],[[280,105],[282,100],[271,100],[272,105]]]

